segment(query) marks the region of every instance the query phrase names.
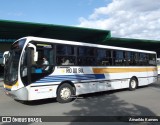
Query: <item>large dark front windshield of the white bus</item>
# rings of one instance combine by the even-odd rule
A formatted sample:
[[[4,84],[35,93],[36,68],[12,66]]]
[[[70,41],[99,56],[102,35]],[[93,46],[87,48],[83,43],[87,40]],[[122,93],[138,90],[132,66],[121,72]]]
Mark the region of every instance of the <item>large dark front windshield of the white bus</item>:
[[[10,56],[4,67],[4,82],[7,85],[14,85],[18,79],[18,65],[25,41],[21,39],[11,46]]]

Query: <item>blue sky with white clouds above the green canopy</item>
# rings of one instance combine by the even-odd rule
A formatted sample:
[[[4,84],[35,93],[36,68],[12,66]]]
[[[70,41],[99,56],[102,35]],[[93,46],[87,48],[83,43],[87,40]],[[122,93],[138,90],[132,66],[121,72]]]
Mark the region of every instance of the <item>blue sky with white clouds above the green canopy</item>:
[[[111,30],[160,39],[160,0],[0,0],[0,19]]]

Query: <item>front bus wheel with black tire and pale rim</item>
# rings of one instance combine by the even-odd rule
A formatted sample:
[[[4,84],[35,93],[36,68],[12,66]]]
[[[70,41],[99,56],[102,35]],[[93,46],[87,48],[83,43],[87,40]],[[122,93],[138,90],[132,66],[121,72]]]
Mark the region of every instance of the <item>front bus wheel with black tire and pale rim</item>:
[[[59,103],[71,102],[73,100],[74,94],[73,87],[68,83],[64,83],[58,88],[57,101]]]

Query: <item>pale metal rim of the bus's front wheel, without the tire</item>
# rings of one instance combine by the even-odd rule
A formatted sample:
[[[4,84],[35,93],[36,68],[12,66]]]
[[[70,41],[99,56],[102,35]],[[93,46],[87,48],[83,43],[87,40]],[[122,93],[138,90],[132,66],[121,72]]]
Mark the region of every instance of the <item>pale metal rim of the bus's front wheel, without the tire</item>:
[[[60,92],[60,96],[62,99],[67,100],[71,96],[71,91],[69,88],[63,88]]]

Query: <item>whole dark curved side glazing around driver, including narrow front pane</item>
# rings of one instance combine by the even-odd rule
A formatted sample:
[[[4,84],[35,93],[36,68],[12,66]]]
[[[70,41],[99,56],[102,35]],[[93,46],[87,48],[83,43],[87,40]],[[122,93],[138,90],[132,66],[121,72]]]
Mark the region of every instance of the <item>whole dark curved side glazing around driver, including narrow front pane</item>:
[[[38,60],[34,59],[34,49],[27,47],[22,56],[21,78],[25,86],[41,83],[41,79],[54,71],[54,49],[48,44],[34,44],[38,52]],[[39,45],[39,46],[38,46]],[[47,59],[48,63],[46,63]],[[47,81],[46,81],[47,82]],[[44,82],[45,83],[45,82]]]

